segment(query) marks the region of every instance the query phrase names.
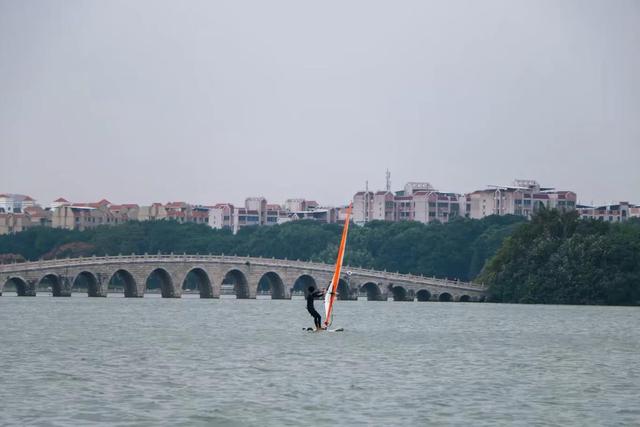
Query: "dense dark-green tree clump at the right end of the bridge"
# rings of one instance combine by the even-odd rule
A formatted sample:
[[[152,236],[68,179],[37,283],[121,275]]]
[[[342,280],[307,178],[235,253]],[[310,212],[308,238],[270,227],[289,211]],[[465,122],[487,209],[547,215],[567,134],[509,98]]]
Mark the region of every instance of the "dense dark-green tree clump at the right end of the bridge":
[[[638,304],[640,222],[543,210],[505,240],[479,279],[498,302]]]

